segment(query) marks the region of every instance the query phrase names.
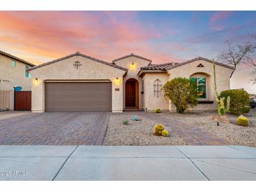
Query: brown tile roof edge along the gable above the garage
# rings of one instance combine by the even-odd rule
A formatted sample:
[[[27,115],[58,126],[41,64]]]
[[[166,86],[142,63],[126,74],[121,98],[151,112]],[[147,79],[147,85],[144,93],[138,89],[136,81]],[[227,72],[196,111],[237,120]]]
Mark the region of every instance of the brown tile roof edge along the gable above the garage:
[[[73,53],[73,54],[71,54],[71,55],[67,55],[67,56],[65,56],[65,57],[61,57],[61,58],[59,58],[59,59],[57,59],[57,60],[52,60],[52,61],[50,61],[50,62],[46,62],[46,63],[43,63],[43,64],[39,64],[38,66],[29,68],[27,71],[31,71],[31,70],[33,70],[33,69],[38,69],[38,68],[44,67],[44,66],[46,66],[46,65],[48,65],[48,64],[52,64],[52,63],[55,63],[55,62],[59,62],[59,61],[61,61],[61,60],[66,60],[67,58],[69,58],[69,57],[74,57],[74,56],[85,57],[85,58],[87,58],[87,59],[94,60],[94,61],[100,62],[100,63],[102,63],[102,64],[107,64],[107,65],[109,65],[109,66],[111,66],[111,67],[115,67],[115,68],[121,69],[121,70],[123,70],[123,71],[128,71],[128,69],[126,69],[126,68],[124,68],[124,67],[120,67],[120,66],[118,66],[118,65],[116,65],[116,64],[109,63],[109,62],[105,62],[105,61],[103,61],[103,60],[98,60],[98,59],[96,59],[95,57],[90,57],[90,56],[88,56],[88,55],[83,55],[83,54],[81,54],[81,53],[79,53],[79,52]]]

